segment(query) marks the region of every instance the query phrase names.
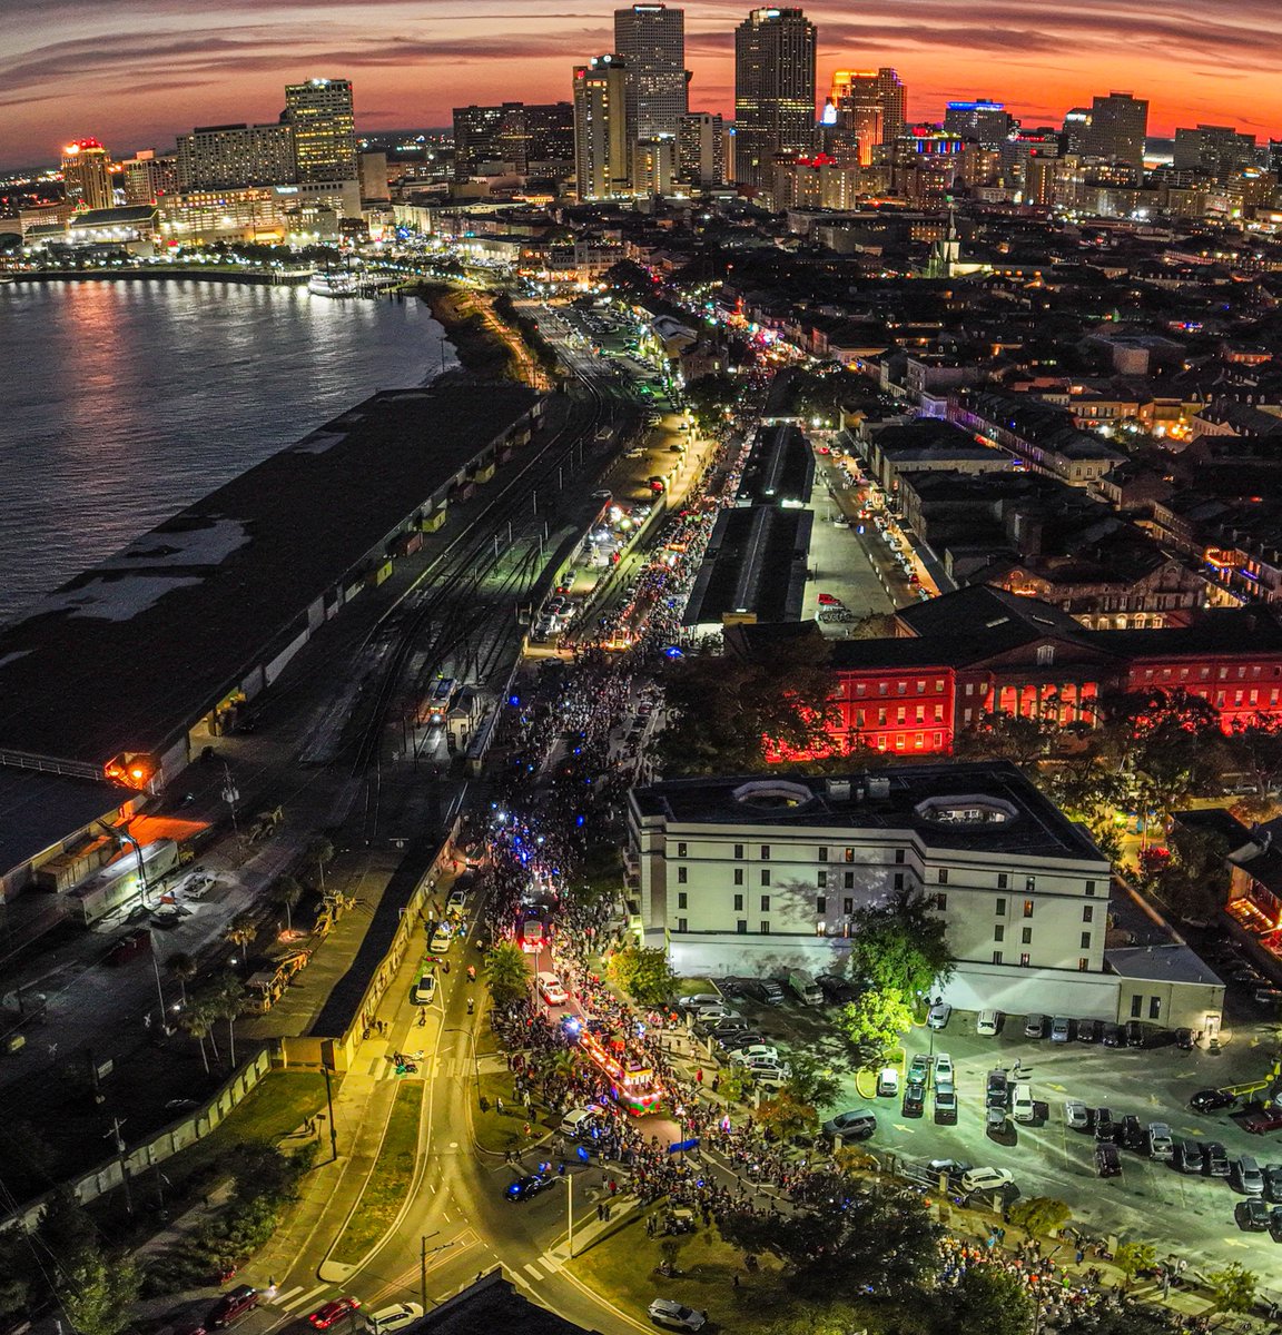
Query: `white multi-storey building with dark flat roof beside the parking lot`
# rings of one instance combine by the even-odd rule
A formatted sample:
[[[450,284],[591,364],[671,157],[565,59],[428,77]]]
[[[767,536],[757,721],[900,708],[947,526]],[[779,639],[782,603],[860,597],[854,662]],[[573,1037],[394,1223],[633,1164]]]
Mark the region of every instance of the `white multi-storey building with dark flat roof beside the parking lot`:
[[[673,780],[628,821],[640,934],[678,973],[827,972],[861,909],[907,896],[944,924],[955,1007],[1218,1029],[1223,985],[1187,949],[1112,964],[1108,860],[1004,761]]]

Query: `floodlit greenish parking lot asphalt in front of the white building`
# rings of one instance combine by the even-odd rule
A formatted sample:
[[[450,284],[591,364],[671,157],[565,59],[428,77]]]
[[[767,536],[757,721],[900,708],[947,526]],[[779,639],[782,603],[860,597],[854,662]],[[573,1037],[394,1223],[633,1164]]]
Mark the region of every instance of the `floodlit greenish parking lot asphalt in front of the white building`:
[[[843,1096],[820,1109],[828,1117],[847,1109],[871,1109],[877,1131],[868,1148],[896,1165],[952,1159],[974,1167],[1008,1169],[1022,1196],[1064,1200],[1087,1234],[1118,1240],[1146,1240],[1159,1256],[1170,1251],[1197,1270],[1215,1270],[1237,1260],[1262,1280],[1282,1272],[1282,1246],[1267,1232],[1243,1232],[1234,1207],[1245,1197],[1227,1180],[1183,1175],[1171,1163],[1150,1160],[1143,1152],[1119,1148],[1120,1176],[1102,1180],[1095,1167],[1095,1137],[1090,1129],[1070,1129],[1064,1103],[1080,1100],[1091,1109],[1111,1109],[1116,1123],[1134,1115],[1147,1127],[1164,1121],[1181,1140],[1219,1141],[1230,1160],[1251,1155],[1261,1167],[1282,1163],[1282,1133],[1251,1135],[1229,1111],[1197,1113],[1189,1097],[1199,1089],[1261,1079],[1269,1069],[1270,1048],[1241,1028],[1223,1052],[1182,1051],[1174,1044],[1152,1048],[1106,1048],[1099,1043],[1023,1036],[1024,1017],[1006,1016],[995,1037],[976,1035],[975,1015],[953,1012],[947,1027],[935,1032],[915,1028],[904,1043],[903,1065],[916,1055],[933,1059],[947,1052],[955,1067],[957,1120],[940,1124],[933,1116],[933,1089],[927,1092],[920,1116],[903,1111],[904,1083],[897,1097],[876,1097],[871,1075],[856,1077],[844,1037],[828,1023],[831,1008],[807,1008],[789,999],[768,1007],[746,997],[732,1003],[756,1032],[780,1049],[787,1060],[807,1051],[839,1071]],[[991,1069],[1004,1068],[1014,1083],[1028,1081],[1036,1105],[1032,1123],[1007,1119],[992,1133],[986,1127],[984,1087]],[[1012,1192],[1014,1193],[1014,1192]]]

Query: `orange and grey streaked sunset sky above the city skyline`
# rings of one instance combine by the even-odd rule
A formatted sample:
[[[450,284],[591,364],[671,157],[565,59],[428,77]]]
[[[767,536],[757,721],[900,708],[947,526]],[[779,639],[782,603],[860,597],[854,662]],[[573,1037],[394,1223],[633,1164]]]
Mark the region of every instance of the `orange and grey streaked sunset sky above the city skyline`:
[[[733,35],[749,5],[684,8],[690,107],[729,113]],[[218,9],[107,0],[92,13],[72,0],[12,0],[20,36],[0,60],[0,166],[56,162],[63,143],[89,135],[127,156],[170,147],[192,125],[264,120],[279,113],[286,83],[314,75],[353,80],[365,134],[447,125],[451,107],[473,101],[569,100],[573,64],[613,47],[613,9],[548,15],[479,0],[446,17],[430,0],[377,0],[357,24],[350,7],[295,0]],[[857,15],[831,0],[805,12],[819,28],[821,91],[833,68],[891,64],[915,119],[941,117],[949,97],[992,96],[1028,124],[1058,123],[1070,107],[1126,88],[1150,100],[1154,135],[1199,121],[1282,134],[1282,88],[1267,59],[1282,15],[1269,0],[1211,17],[1187,3],[1156,12],[1138,0],[1087,0],[1072,12],[924,0],[909,21],[899,0],[871,0]]]

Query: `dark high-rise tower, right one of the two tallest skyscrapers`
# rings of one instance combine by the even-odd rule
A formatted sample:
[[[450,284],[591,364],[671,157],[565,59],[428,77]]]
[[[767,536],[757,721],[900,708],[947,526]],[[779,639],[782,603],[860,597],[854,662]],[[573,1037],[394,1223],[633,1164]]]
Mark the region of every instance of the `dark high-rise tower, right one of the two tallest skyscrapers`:
[[[815,24],[800,9],[753,9],[734,29],[734,179],[775,186],[775,156],[813,148]]]

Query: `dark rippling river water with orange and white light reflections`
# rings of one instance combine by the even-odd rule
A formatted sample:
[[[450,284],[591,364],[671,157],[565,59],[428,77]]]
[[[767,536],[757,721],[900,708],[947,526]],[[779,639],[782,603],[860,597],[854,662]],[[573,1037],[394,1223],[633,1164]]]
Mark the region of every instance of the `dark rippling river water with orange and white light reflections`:
[[[0,284],[0,623],[453,352],[426,306],[192,280]]]

